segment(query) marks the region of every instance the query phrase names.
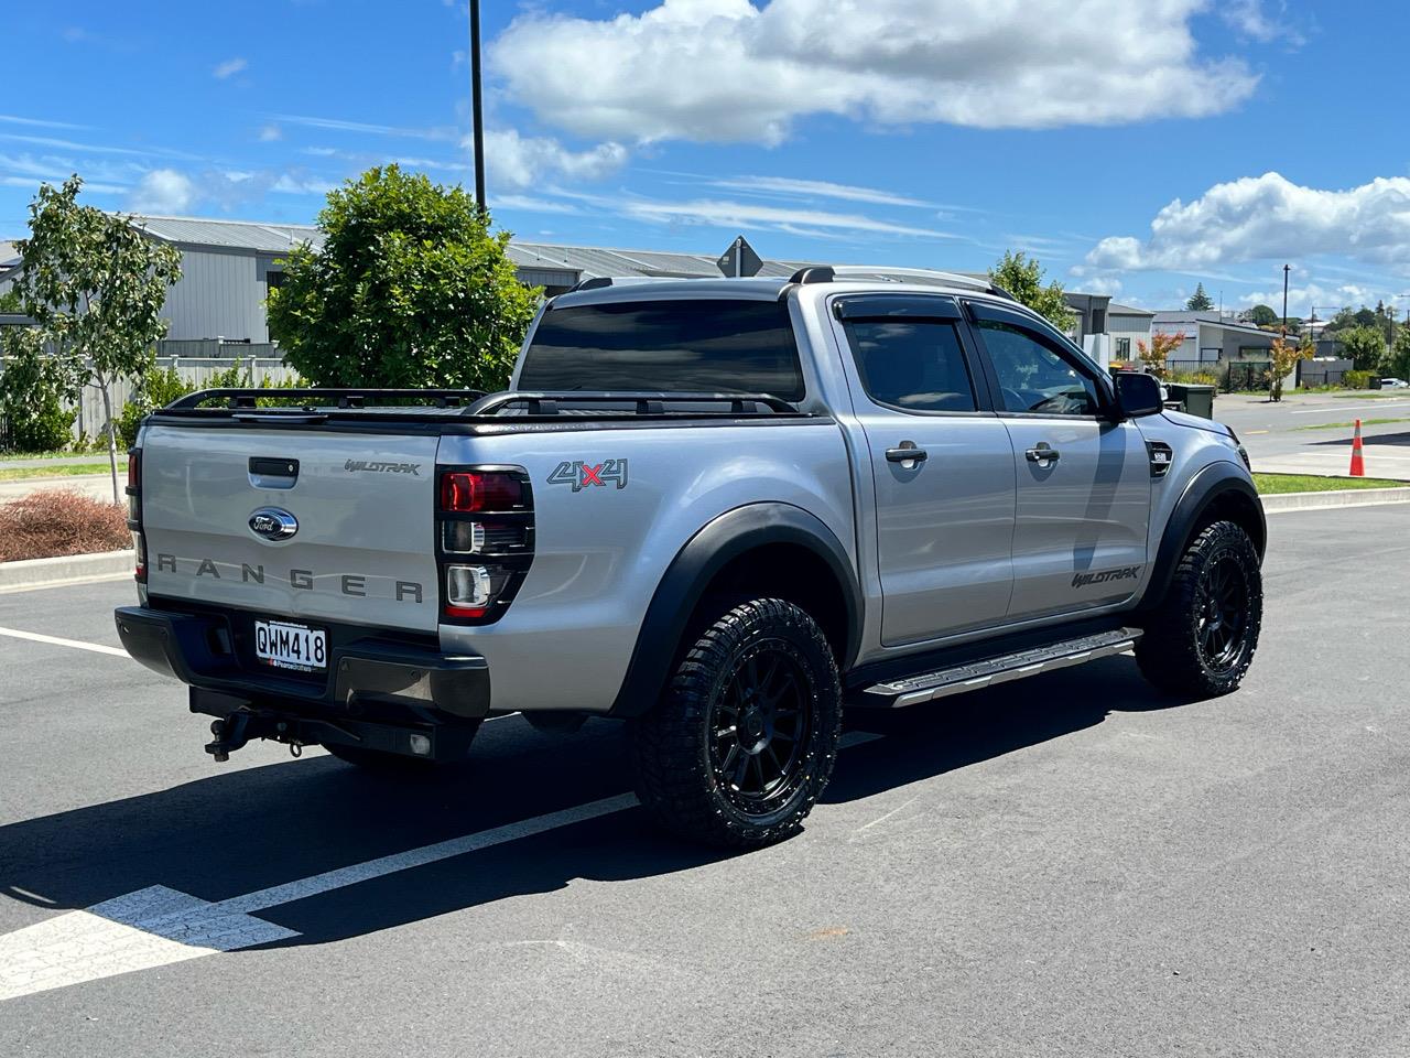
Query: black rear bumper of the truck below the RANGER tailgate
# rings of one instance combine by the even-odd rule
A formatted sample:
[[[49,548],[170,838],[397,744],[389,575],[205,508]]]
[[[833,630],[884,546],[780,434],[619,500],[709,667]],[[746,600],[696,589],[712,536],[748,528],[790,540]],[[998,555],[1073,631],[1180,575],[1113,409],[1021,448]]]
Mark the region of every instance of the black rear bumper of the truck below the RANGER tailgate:
[[[331,646],[326,679],[300,680],[244,667],[220,615],[121,607],[113,616],[127,653],[190,684],[196,712],[223,717],[247,707],[324,721],[391,715],[431,724],[489,712],[489,663],[478,655],[369,636]]]

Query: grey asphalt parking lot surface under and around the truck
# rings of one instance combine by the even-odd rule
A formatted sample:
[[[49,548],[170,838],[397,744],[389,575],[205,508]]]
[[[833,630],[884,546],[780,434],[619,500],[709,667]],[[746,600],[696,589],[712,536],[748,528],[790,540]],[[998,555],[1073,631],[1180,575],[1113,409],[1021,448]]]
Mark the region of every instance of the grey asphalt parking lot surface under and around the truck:
[[[214,765],[182,687],[13,635],[116,647],[130,584],[0,595],[0,1054],[1400,1058],[1410,505],[1269,521],[1235,695],[1117,657],[856,714],[737,856],[629,807],[606,721],[410,783]]]

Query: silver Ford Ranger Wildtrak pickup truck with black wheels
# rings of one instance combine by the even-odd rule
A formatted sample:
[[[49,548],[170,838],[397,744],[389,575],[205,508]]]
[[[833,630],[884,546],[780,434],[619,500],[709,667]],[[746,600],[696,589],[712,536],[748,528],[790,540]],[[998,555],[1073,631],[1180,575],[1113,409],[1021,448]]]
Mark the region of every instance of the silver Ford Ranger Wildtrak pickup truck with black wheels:
[[[629,721],[642,801],[797,831],[843,705],[1135,652],[1234,690],[1265,521],[1238,439],[1003,291],[909,269],[589,281],[494,395],[206,391],[131,454],[128,652],[251,738],[395,770],[486,717]]]

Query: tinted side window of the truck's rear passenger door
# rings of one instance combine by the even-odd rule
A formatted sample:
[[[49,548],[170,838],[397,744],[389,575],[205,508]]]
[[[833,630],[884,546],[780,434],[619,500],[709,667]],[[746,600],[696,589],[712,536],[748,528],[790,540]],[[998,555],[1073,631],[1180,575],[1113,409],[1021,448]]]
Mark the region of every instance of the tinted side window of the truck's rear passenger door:
[[[905,412],[973,412],[974,388],[955,324],[856,320],[847,337],[867,395]]]

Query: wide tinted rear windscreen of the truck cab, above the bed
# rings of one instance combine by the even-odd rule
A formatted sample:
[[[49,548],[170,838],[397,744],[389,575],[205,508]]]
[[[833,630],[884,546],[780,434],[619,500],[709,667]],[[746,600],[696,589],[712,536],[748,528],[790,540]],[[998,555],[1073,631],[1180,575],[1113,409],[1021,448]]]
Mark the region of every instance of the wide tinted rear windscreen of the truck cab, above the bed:
[[[519,388],[804,395],[788,308],[726,299],[550,309]]]

